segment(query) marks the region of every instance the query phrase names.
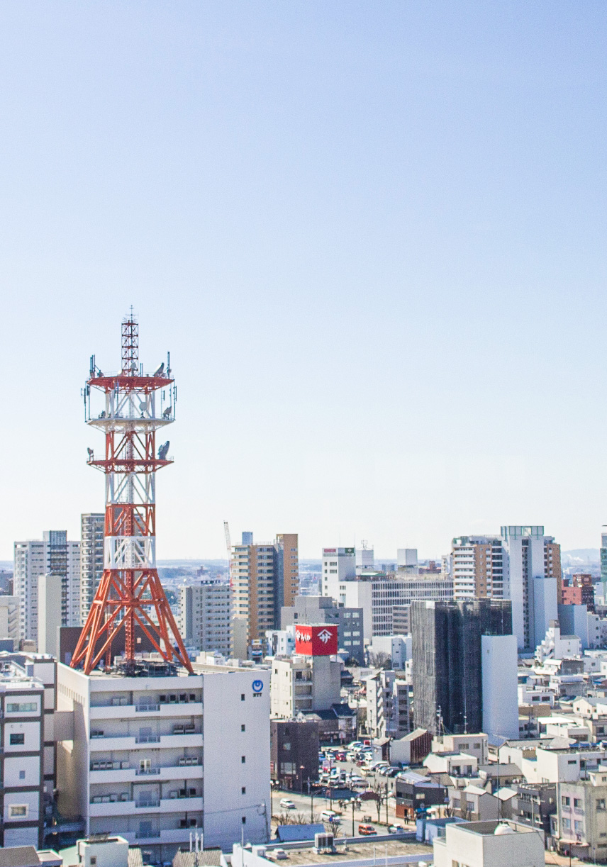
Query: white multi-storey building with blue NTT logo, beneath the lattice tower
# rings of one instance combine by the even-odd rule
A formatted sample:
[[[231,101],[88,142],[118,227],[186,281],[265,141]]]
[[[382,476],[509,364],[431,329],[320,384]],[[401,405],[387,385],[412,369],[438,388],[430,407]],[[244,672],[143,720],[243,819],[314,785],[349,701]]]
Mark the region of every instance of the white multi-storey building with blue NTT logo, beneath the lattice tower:
[[[152,668],[150,668],[152,670]],[[59,809],[171,861],[192,831],[229,849],[270,834],[269,673],[195,664],[195,674],[127,677],[58,665]],[[204,745],[204,749],[203,749]]]

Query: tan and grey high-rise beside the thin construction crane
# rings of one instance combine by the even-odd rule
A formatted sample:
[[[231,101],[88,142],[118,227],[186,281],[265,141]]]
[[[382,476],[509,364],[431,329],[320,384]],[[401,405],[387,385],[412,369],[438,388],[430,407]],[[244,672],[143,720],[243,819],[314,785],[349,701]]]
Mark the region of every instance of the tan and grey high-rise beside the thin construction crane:
[[[280,609],[298,592],[297,533],[279,533],[274,542],[232,545],[232,653],[244,658],[267,629],[280,626]],[[261,646],[261,644],[259,645]]]

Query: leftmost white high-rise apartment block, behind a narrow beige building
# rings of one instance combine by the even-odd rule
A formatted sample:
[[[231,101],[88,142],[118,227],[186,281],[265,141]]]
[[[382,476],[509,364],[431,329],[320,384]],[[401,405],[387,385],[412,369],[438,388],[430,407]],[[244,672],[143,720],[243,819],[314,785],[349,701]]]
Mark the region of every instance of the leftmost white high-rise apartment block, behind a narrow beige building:
[[[80,542],[70,542],[65,530],[47,530],[42,540],[16,542],[15,595],[19,596],[20,634],[38,639],[38,576],[62,578],[62,626],[80,626]]]

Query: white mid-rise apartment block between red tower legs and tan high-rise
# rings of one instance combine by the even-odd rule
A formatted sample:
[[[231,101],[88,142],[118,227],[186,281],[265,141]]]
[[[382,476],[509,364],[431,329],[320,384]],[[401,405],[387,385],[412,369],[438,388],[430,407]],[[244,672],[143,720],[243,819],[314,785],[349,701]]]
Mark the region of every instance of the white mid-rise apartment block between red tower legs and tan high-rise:
[[[179,587],[179,632],[186,647],[231,653],[232,590],[225,581],[204,578]]]

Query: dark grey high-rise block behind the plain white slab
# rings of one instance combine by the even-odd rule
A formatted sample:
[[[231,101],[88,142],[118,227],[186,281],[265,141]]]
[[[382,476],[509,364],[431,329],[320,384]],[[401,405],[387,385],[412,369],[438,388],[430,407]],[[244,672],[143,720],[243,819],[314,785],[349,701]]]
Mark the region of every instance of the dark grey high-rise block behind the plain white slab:
[[[414,601],[414,724],[436,734],[482,731],[480,636],[512,635],[508,599]]]

